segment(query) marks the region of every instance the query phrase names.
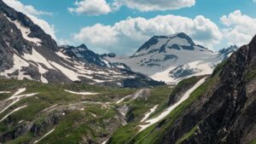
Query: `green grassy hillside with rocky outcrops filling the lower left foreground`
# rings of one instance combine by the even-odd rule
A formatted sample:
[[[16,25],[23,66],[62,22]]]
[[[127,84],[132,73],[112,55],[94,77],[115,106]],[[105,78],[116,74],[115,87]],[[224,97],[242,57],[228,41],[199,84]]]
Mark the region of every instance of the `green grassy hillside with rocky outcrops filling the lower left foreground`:
[[[137,124],[148,109],[164,105],[172,92],[169,86],[148,89],[147,97],[125,99],[126,95],[139,89],[113,89],[88,84],[41,84],[29,80],[1,79],[0,111],[14,100],[7,100],[20,88],[26,88],[20,95],[38,93],[21,98],[14,105],[0,113],[0,141],[3,143],[102,143],[113,131],[123,128],[128,118],[132,120],[124,127]],[[97,95],[75,95],[76,92],[98,93]],[[122,116],[119,108],[127,105],[129,112]],[[20,110],[15,109],[23,107]],[[50,133],[49,133],[50,132]],[[49,135],[46,135],[48,134]]]

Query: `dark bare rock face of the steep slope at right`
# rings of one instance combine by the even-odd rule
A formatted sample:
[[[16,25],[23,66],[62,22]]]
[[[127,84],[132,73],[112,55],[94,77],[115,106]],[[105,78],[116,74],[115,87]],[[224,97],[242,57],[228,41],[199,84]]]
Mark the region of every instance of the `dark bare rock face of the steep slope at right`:
[[[160,143],[247,143],[255,139],[255,70],[256,37],[230,57],[215,83],[166,130]]]

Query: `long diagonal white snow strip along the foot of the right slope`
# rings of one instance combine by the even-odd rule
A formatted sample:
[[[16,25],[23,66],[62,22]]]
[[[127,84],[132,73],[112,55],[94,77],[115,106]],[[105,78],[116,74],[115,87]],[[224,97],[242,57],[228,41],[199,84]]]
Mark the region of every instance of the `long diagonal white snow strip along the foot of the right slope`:
[[[145,123],[148,124],[142,124],[140,125],[140,127],[142,128],[140,131],[147,129],[150,125],[155,124],[157,122],[159,122],[162,118],[165,118],[170,112],[172,112],[172,110],[174,110],[178,105],[180,105],[183,101],[186,101],[189,98],[189,95],[195,91],[195,89],[197,89],[201,84],[203,84],[205,82],[206,78],[202,78],[199,82],[197,82],[194,87],[192,87],[191,89],[189,89],[184,95],[183,97],[177,101],[177,103],[175,103],[174,105],[172,105],[171,107],[167,108],[166,111],[160,113],[160,115],[156,118],[151,118],[148,119],[147,121],[145,121]]]

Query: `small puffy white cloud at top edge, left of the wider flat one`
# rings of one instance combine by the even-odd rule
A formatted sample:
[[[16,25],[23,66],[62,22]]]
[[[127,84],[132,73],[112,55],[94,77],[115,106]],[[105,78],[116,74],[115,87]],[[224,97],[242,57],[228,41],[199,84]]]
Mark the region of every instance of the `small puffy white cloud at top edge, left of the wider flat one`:
[[[68,11],[76,14],[100,15],[112,11],[105,0],[82,0],[75,2],[76,8],[68,8]]]

